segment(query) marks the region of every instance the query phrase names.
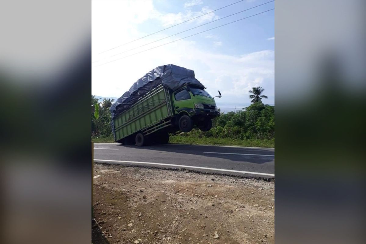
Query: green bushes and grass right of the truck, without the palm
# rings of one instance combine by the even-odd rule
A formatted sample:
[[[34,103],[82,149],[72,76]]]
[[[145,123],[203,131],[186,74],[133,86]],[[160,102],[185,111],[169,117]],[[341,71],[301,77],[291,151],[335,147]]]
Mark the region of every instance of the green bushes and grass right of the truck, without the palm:
[[[261,101],[221,114],[207,132],[193,129],[171,136],[171,143],[275,147],[275,107]]]

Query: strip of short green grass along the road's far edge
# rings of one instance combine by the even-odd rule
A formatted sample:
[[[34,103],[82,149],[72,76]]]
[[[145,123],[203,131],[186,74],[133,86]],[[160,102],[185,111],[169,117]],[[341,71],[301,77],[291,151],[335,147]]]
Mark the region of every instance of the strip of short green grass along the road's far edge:
[[[91,140],[94,143],[108,143],[115,142],[113,136],[98,136],[91,137]],[[178,143],[178,144],[192,144],[192,145],[220,145],[220,146],[242,146],[242,147],[275,147],[275,139],[230,139],[230,138],[210,138],[210,137],[202,137],[198,138],[195,136],[180,136],[175,135],[171,136],[169,139],[169,143]]]

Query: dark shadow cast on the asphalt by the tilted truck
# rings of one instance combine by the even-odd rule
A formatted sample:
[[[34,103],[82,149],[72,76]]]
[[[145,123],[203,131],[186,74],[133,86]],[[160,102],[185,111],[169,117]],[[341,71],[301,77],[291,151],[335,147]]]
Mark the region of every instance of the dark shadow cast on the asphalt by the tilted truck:
[[[156,144],[144,147],[130,146],[119,144],[120,147],[128,149],[136,149],[141,151],[150,150],[156,152],[169,153],[185,153],[191,155],[202,155],[205,157],[222,158],[237,162],[251,162],[255,164],[264,164],[271,162],[275,158],[270,156],[254,156],[254,155],[236,155],[236,154],[219,154],[219,153],[239,153],[239,154],[265,154],[274,155],[273,149],[256,149],[256,148],[239,148],[239,147],[217,147],[217,146],[198,146],[186,144]],[[210,153],[204,153],[210,152]],[[172,162],[173,163],[173,162]]]

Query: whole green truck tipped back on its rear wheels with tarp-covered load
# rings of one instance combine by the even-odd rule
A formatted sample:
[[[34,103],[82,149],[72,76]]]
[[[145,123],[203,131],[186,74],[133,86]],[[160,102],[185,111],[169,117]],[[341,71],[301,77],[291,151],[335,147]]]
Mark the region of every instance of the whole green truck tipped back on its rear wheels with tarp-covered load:
[[[173,64],[156,67],[111,106],[115,141],[144,146],[168,143],[169,133],[194,127],[209,131],[220,112],[205,89],[193,70]]]

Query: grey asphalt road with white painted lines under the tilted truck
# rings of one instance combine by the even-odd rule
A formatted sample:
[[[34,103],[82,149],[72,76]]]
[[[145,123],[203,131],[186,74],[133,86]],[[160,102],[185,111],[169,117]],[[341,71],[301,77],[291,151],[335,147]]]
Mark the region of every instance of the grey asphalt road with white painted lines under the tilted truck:
[[[94,143],[94,162],[184,168],[199,172],[264,178],[275,177],[274,156],[274,148],[183,144],[137,147],[118,143]]]

